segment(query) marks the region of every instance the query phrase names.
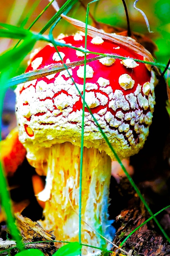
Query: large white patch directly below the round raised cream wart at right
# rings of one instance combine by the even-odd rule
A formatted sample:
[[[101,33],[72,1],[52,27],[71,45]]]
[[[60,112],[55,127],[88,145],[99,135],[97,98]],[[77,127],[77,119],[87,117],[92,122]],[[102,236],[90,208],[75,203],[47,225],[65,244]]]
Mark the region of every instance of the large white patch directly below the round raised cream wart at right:
[[[114,111],[117,110],[117,108],[122,108],[123,110],[129,110],[129,103],[125,99],[124,94],[120,90],[115,90],[113,97],[113,100],[109,103],[109,108],[112,108]]]

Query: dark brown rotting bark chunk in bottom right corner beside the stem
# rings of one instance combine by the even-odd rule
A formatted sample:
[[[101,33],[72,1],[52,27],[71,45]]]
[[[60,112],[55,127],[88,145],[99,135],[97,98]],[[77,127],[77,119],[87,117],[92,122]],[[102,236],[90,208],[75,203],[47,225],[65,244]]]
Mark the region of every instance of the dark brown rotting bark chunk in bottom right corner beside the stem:
[[[122,181],[122,194],[124,194],[125,191],[131,194],[131,185],[129,185],[129,188],[128,186],[124,186],[127,184],[126,179],[124,179]],[[137,194],[134,192],[131,196],[132,198],[129,200],[128,207],[116,218],[118,229],[114,243],[117,245],[119,245],[132,230],[150,217],[147,211],[145,211],[143,204],[140,203]],[[155,232],[154,229],[154,223],[151,220],[132,234],[122,248],[127,252],[133,249],[133,255],[138,256],[169,256],[170,244],[166,242],[161,234]]]

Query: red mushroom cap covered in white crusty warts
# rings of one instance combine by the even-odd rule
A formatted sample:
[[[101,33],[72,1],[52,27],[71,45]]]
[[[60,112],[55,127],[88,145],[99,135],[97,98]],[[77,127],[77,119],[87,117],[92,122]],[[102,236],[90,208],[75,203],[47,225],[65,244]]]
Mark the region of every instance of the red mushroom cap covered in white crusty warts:
[[[84,49],[85,36],[78,32],[60,36],[59,41]],[[99,36],[87,37],[87,49],[126,58],[105,57],[86,65],[85,101],[119,157],[136,154],[152,122],[155,74],[144,63],[130,59],[143,60],[143,56]],[[84,59],[80,51],[67,47],[58,50],[65,63]],[[87,54],[87,59],[93,57],[96,55]],[[52,45],[46,45],[26,72],[56,63],[62,63],[58,53]],[[83,93],[84,65],[69,68],[69,73]],[[82,99],[67,70],[18,85],[16,91],[19,138],[28,151],[66,141],[80,146]],[[84,146],[104,150],[114,159],[87,108],[84,121]]]

